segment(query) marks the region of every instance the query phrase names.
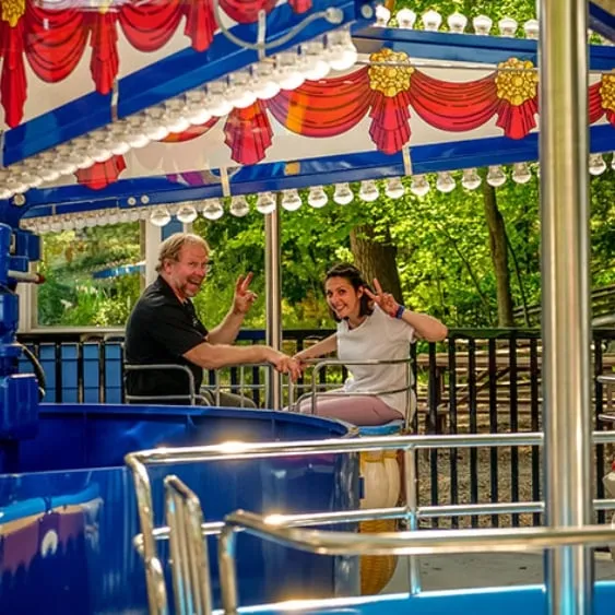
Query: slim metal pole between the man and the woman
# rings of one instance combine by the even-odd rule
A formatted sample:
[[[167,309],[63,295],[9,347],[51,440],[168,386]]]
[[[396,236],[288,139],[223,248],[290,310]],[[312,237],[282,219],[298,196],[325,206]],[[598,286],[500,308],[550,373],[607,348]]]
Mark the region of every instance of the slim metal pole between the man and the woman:
[[[277,208],[264,216],[264,282],[267,294],[267,343],[275,350],[282,347],[282,285],[280,268],[280,194]],[[282,407],[282,376],[268,371],[267,407]]]

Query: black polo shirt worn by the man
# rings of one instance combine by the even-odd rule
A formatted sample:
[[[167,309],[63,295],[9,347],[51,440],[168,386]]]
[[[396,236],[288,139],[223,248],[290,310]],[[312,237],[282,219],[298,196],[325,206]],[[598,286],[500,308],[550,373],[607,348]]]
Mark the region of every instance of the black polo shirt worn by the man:
[[[184,358],[189,350],[204,342],[208,330],[199,320],[192,301],[181,303],[161,277],[141,295],[126,324],[125,359],[128,364],[186,365],[194,376],[196,392],[203,369]],[[187,375],[179,370],[127,372],[127,392],[131,395],[174,395],[189,393]],[[155,403],[155,402],[150,402]],[[189,403],[173,400],[163,403]]]

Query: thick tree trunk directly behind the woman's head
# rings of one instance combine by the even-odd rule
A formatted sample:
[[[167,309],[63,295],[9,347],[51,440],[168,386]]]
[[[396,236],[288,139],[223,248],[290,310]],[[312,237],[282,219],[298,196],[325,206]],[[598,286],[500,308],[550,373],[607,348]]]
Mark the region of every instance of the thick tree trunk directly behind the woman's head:
[[[385,237],[378,237],[374,226],[362,224],[351,232],[351,250],[356,267],[363,272],[365,281],[372,286],[377,277],[382,291],[391,293],[395,300],[403,301],[400,275],[398,272],[398,249],[391,243],[389,228]]]

